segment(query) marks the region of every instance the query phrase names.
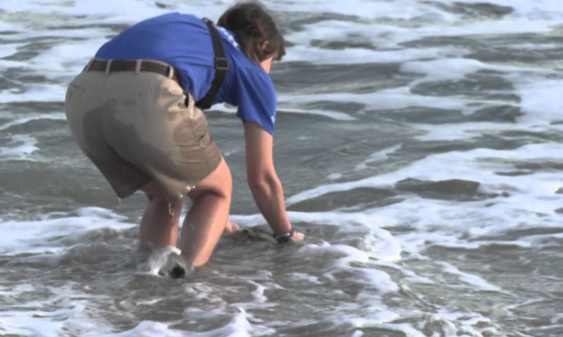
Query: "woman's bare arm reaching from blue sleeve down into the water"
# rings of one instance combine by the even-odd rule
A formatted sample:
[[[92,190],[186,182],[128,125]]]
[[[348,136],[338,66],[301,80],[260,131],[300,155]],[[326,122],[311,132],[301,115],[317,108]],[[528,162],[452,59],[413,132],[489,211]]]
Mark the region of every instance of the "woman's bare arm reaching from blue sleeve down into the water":
[[[258,124],[244,122],[246,142],[246,178],[254,200],[268,225],[276,234],[289,232],[292,227],[286,212],[284,188],[273,161],[273,137]],[[303,239],[295,232],[293,239]]]

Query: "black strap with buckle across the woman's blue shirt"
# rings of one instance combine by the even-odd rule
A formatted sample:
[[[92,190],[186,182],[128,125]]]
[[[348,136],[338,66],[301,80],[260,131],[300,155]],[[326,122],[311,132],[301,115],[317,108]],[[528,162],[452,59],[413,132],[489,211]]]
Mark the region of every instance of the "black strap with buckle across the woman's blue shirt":
[[[211,103],[213,102],[213,98],[215,98],[215,95],[217,95],[217,92],[221,89],[226,71],[229,69],[229,61],[225,57],[221,38],[217,29],[213,25],[213,22],[207,18],[203,18],[202,20],[205,22],[207,28],[209,28],[209,32],[211,33],[213,53],[215,54],[215,77],[213,78],[213,82],[211,82],[211,89],[209,89],[207,94],[205,94],[205,97],[196,102],[195,105],[200,109],[209,109],[211,107]]]

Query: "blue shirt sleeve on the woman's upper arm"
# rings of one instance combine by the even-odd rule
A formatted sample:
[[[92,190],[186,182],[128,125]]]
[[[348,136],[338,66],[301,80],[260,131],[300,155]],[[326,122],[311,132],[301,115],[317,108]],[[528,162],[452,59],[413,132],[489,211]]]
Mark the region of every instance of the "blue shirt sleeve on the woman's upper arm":
[[[270,76],[262,68],[241,68],[236,74],[237,117],[251,120],[274,135],[277,98]]]

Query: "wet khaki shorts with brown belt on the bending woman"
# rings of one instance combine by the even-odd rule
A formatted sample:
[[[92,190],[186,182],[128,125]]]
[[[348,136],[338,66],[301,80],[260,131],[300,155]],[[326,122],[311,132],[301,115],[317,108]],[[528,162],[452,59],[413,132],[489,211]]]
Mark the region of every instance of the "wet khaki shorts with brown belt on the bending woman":
[[[169,202],[217,168],[203,112],[180,85],[153,72],[83,72],[65,111],[72,135],[120,198],[154,180]]]

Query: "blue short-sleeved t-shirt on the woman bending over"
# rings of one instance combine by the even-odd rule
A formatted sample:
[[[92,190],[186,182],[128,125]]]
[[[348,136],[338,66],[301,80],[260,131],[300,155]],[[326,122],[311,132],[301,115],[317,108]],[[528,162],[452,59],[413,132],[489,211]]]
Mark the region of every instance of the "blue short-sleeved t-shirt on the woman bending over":
[[[277,100],[270,76],[242,52],[232,32],[221,27],[217,30],[229,70],[213,104],[236,106],[239,118],[252,120],[273,135]],[[202,19],[188,14],[169,13],[136,23],[105,43],[96,57],[169,63],[176,69],[184,92],[195,101],[205,96],[215,76],[209,28]]]

